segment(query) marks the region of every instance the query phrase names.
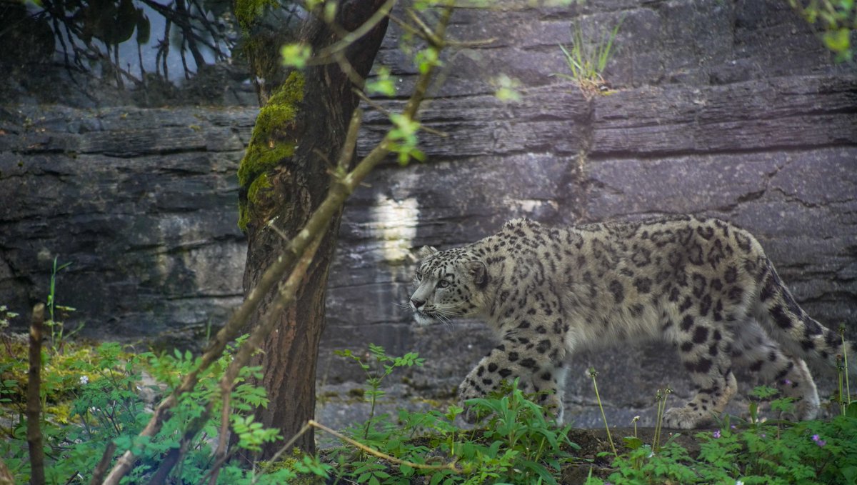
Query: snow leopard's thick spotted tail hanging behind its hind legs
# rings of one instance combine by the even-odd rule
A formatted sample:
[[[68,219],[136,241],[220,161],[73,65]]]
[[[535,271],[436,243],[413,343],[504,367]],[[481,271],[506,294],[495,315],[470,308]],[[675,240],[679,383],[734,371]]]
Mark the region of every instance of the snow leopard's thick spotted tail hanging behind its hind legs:
[[[848,340],[843,342],[839,328],[832,330],[806,314],[782,284],[767,257],[758,278],[760,290],[755,317],[771,337],[792,356],[804,357],[810,362],[821,360],[836,366],[840,359],[843,362],[847,357],[848,374],[857,374],[857,345]]]

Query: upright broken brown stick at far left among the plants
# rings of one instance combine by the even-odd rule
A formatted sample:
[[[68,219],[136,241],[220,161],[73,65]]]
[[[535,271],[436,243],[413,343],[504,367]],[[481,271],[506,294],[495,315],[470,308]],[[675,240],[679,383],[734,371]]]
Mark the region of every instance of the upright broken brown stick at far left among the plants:
[[[45,449],[42,447],[41,412],[39,393],[42,386],[42,325],[45,323],[45,304],[33,307],[30,320],[30,369],[27,375],[27,446],[30,449],[30,483],[45,483]]]

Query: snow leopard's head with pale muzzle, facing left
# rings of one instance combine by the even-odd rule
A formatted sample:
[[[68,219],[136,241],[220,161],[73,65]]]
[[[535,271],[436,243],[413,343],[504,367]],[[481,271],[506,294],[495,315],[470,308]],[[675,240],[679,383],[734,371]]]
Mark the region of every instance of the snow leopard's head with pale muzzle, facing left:
[[[488,268],[466,248],[438,251],[424,246],[414,274],[416,290],[410,306],[417,323],[448,321],[452,317],[476,316],[482,312]]]

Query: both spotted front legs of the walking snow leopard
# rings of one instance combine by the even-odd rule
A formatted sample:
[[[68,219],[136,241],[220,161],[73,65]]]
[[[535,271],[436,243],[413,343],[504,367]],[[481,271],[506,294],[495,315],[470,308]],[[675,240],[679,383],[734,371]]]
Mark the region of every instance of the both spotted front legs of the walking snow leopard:
[[[518,379],[518,388],[525,393],[536,393],[538,403],[545,406],[557,422],[562,422],[562,393],[566,380],[563,365],[565,351],[548,338],[528,338],[519,334],[506,337],[482,357],[476,368],[467,374],[458,386],[458,398],[464,405],[467,399],[483,398],[500,388],[503,381]],[[476,421],[474,410],[464,405],[464,419]]]

